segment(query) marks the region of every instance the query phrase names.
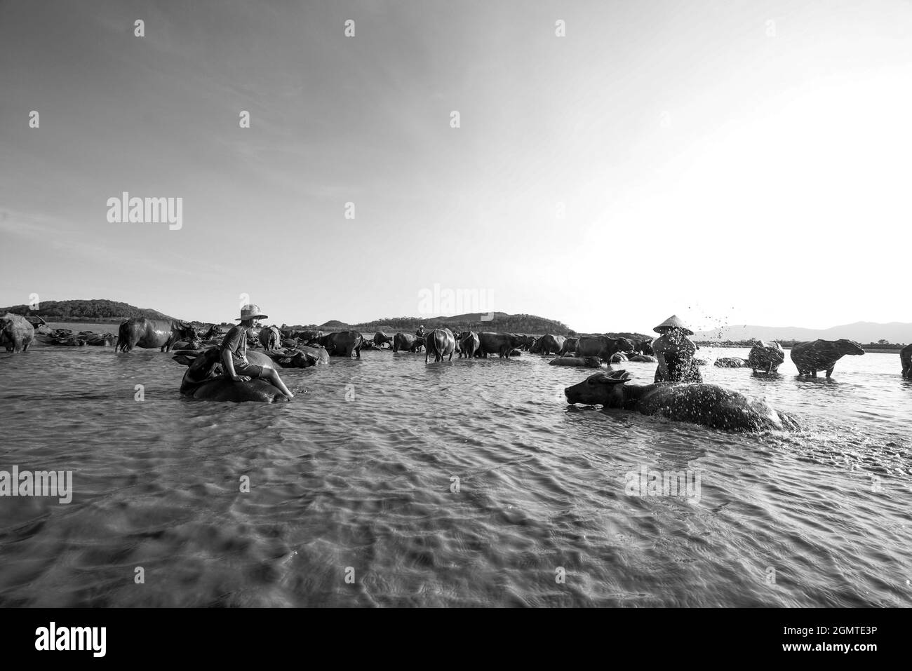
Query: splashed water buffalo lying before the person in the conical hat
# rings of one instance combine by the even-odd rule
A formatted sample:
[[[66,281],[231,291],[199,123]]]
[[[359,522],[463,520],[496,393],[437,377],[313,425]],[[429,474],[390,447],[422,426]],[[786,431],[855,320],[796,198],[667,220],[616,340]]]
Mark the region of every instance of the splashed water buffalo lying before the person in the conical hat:
[[[766,403],[708,384],[653,383],[627,385],[630,375],[616,370],[596,373],[564,390],[567,402],[635,410],[681,422],[728,431],[748,432],[800,428],[798,422]]]

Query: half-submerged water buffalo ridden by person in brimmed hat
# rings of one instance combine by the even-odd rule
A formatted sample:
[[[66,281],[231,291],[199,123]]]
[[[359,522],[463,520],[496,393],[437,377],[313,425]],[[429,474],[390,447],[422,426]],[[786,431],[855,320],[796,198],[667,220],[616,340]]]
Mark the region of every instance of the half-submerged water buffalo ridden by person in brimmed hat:
[[[224,377],[219,347],[210,347],[199,353],[184,352],[174,360],[189,366],[181,379],[181,394],[209,401],[261,401],[274,403],[288,398],[263,378],[234,382]],[[260,352],[247,352],[247,360],[256,366],[272,368],[273,361]]]

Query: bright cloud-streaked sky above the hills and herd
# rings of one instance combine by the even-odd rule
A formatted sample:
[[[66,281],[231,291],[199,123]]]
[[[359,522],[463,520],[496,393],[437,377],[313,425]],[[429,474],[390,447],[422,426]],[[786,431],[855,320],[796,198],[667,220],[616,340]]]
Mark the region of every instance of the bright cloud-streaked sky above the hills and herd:
[[[0,305],[912,321],[910,82],[905,0],[0,0]]]

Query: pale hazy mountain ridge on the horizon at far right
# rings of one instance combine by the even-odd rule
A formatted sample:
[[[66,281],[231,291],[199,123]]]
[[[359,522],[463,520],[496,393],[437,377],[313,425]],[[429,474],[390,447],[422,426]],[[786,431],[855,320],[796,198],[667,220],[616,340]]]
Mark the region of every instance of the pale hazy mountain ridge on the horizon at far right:
[[[912,343],[912,324],[890,322],[855,322],[830,328],[800,328],[798,326],[725,326],[711,331],[698,331],[694,340],[838,340],[847,338],[859,343]]]

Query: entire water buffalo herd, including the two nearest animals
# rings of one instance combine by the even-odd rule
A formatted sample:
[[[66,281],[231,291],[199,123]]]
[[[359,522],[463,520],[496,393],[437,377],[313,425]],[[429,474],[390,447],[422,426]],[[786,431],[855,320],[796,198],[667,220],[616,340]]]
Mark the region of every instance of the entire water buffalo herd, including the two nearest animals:
[[[676,318],[676,317],[675,317]],[[40,319],[40,318],[39,318]],[[334,333],[301,331],[278,326],[262,326],[247,332],[248,356],[255,366],[278,368],[306,368],[327,364],[330,356],[361,356],[364,349],[386,349],[392,352],[420,353],[425,362],[452,360],[454,354],[472,358],[499,356],[509,359],[521,353],[554,356],[553,366],[583,366],[598,368],[595,375],[586,377],[572,387],[565,388],[567,402],[604,408],[621,408],[646,415],[660,415],[668,419],[687,421],[711,428],[734,431],[798,428],[791,416],[770,408],[764,402],[745,397],[737,391],[718,385],[703,384],[699,373],[689,384],[665,384],[659,380],[646,385],[630,383],[626,371],[608,369],[603,363],[623,361],[657,361],[670,370],[680,346],[686,348],[692,360],[692,369],[705,366],[706,361],[693,358],[695,348],[687,340],[670,346],[662,339],[637,340],[607,336],[580,336],[566,338],[546,334],[527,336],[513,333],[463,331],[455,335],[448,328],[436,328],[427,333],[422,329],[416,335],[396,333],[392,336],[378,331],[367,338],[358,331]],[[43,321],[33,324],[21,315],[7,313],[0,317],[0,344],[7,351],[27,351],[34,340],[48,345],[110,346],[116,352],[130,352],[134,347],[160,348],[162,352],[175,350],[173,358],[188,366],[181,380],[181,393],[195,398],[222,401],[287,400],[279,390],[264,379],[249,379],[242,383],[226,378],[219,356],[223,339],[218,325],[199,325],[182,321],[146,318],[128,319],[119,325],[118,335],[79,332],[67,329],[50,329]],[[674,341],[672,341],[674,342]],[[683,351],[683,350],[680,350]],[[845,355],[863,355],[865,351],[849,340],[816,340],[799,343],[792,348],[791,356],[800,375],[816,377],[826,371],[830,377],[836,361]],[[656,356],[654,356],[656,355]],[[778,343],[756,343],[747,358],[721,357],[715,366],[750,367],[754,373],[769,375],[785,359]],[[903,377],[912,378],[912,346],[900,353]],[[670,378],[674,381],[674,378]]]

